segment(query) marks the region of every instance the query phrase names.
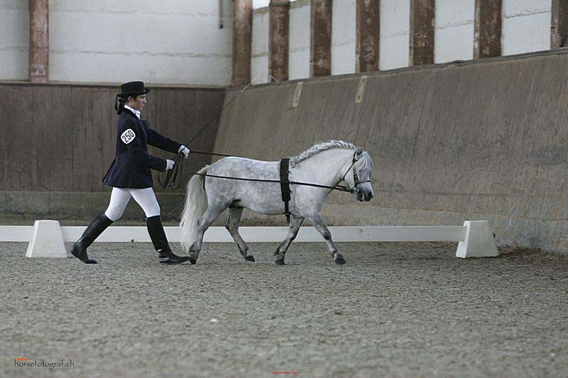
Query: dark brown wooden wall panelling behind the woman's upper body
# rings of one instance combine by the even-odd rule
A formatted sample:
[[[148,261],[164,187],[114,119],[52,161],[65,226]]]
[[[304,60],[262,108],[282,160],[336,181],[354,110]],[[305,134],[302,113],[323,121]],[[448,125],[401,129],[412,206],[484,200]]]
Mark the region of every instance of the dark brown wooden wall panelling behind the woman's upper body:
[[[143,118],[180,143],[222,108],[225,94],[220,88],[148,87]],[[106,191],[102,177],[114,159],[118,92],[103,85],[0,83],[0,191]],[[190,148],[212,150],[218,123],[213,121]],[[209,161],[192,155],[185,169]],[[185,181],[189,178],[185,175]],[[160,191],[158,185],[155,189]]]

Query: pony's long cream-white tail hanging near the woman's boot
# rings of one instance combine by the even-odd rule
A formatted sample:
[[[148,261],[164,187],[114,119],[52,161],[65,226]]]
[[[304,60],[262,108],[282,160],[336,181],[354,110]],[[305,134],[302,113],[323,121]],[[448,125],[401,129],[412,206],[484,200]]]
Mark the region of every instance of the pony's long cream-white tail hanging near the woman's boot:
[[[207,173],[209,165],[197,173]],[[195,174],[187,184],[185,206],[180,222],[182,248],[189,252],[190,247],[197,239],[197,221],[207,210],[207,194],[204,188],[205,177]]]

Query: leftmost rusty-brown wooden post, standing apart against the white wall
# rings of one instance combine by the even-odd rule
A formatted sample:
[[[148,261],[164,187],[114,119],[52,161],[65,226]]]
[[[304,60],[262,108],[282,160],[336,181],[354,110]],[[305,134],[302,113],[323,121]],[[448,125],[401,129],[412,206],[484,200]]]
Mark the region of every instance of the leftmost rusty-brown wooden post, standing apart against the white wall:
[[[30,1],[30,82],[49,79],[49,1]]]

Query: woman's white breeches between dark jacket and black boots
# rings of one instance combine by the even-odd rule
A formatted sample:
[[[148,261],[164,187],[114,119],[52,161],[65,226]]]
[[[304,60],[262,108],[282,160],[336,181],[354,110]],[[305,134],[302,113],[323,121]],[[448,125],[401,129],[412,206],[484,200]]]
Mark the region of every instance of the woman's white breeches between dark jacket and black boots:
[[[113,222],[118,221],[124,213],[126,205],[129,204],[131,196],[134,197],[134,201],[136,201],[144,213],[146,213],[146,218],[160,215],[160,204],[158,204],[158,199],[155,198],[152,188],[112,188],[109,208],[104,212],[104,215]]]

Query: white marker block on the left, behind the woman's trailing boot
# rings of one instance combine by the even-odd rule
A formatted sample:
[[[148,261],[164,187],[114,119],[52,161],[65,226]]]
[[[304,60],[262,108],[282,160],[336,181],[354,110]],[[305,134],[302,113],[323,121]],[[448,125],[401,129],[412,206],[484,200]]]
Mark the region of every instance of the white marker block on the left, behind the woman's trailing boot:
[[[26,257],[68,257],[58,221],[35,221]]]

